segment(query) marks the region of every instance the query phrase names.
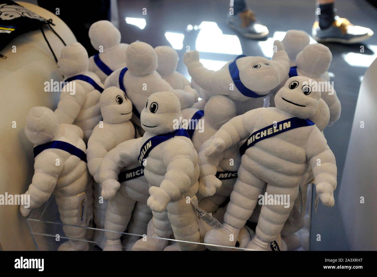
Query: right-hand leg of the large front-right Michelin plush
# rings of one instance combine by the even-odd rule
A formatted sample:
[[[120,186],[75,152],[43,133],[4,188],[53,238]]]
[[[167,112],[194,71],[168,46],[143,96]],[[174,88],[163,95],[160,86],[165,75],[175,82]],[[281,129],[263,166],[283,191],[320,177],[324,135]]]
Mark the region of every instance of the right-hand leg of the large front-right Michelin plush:
[[[283,229],[285,221],[293,209],[294,201],[296,200],[299,187],[298,185],[292,188],[280,187],[273,184],[268,184],[266,188],[268,195],[290,195],[289,207],[285,205],[263,205],[261,214],[259,215],[258,224],[256,226],[256,236],[248,244],[247,248],[255,250],[268,250],[270,242],[276,240],[280,231]],[[265,248],[267,243],[267,248]]]

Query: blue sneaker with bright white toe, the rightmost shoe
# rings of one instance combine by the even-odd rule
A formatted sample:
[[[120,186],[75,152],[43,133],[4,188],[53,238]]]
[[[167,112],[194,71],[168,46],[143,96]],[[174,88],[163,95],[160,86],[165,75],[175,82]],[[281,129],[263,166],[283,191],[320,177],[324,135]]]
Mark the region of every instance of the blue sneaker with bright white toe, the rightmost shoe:
[[[318,42],[358,43],[373,35],[373,31],[362,26],[354,26],[346,18],[334,17],[334,22],[326,29],[314,22],[312,36]]]

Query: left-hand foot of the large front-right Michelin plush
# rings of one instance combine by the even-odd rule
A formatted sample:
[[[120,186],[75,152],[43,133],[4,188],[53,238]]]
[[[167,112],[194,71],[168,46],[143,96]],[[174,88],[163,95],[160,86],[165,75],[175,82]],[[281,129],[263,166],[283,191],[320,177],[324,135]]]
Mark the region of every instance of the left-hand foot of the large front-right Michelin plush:
[[[234,247],[236,245],[236,239],[238,237],[239,228],[234,228],[233,226],[224,223],[221,228],[209,231],[204,236],[204,243],[224,245]],[[206,245],[211,251],[232,251],[232,248],[223,248],[218,246]]]

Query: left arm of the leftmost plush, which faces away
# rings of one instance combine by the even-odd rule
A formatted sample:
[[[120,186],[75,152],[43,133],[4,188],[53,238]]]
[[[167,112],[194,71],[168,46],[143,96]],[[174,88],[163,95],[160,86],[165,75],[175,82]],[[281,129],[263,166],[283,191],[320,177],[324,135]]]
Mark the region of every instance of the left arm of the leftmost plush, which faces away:
[[[20,205],[20,212],[23,216],[27,216],[34,208],[40,207],[46,202],[54,191],[58,181],[63,164],[56,166],[56,159],[62,163],[59,155],[51,151],[44,151],[37,156],[34,162],[34,175],[26,195],[30,195],[30,207]]]

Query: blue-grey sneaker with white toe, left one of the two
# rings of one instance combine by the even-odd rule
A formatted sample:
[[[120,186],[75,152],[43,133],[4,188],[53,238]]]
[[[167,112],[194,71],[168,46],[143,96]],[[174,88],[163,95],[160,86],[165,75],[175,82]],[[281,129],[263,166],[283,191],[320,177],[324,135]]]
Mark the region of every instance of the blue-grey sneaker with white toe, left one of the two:
[[[268,35],[267,27],[256,20],[250,9],[235,15],[228,14],[226,23],[229,28],[246,38],[264,38]]]

